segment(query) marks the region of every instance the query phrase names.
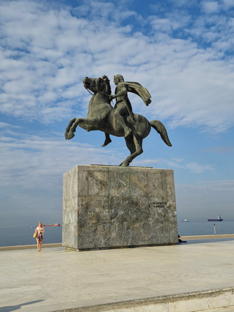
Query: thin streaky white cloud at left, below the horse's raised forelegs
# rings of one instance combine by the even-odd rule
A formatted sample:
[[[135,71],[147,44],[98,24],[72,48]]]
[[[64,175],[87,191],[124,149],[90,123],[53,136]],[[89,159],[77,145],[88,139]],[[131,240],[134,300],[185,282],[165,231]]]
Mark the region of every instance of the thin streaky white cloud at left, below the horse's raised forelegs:
[[[17,134],[20,138],[0,139],[2,163],[1,185],[19,185],[23,189],[49,187],[51,179],[79,164],[116,162],[121,153],[111,156],[111,149],[97,149],[89,144],[79,144],[54,136],[39,137]],[[83,147],[84,146],[84,147]],[[124,156],[123,156],[124,157]],[[66,160],[66,161],[64,161]],[[23,175],[21,175],[23,173]],[[41,183],[41,181],[44,181]]]

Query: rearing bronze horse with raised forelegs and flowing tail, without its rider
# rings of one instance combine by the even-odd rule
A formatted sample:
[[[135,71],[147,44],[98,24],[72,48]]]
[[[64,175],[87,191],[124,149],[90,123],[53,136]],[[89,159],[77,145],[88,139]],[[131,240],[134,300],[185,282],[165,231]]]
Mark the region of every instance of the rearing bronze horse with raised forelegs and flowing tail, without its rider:
[[[115,120],[115,109],[111,106],[111,87],[107,76],[99,78],[84,78],[85,89],[91,90],[94,94],[89,102],[87,118],[72,118],[66,128],[65,139],[72,139],[76,127],[79,126],[86,131],[100,130],[105,132],[106,140],[102,146],[111,142],[109,134],[123,137],[124,129],[122,125]],[[125,114],[124,116],[127,126],[132,130],[131,134],[125,137],[127,148],[130,155],[120,164],[120,166],[129,166],[129,163],[136,156],[143,153],[142,141],[154,128],[161,136],[163,141],[172,146],[167,135],[164,125],[159,120],[148,121],[144,116],[138,114]]]

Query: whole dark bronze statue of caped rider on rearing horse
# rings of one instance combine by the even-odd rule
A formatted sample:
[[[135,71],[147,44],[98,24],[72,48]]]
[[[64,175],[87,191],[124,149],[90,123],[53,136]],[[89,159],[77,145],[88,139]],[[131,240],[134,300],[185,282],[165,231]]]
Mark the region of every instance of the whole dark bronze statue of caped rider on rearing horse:
[[[130,155],[120,164],[129,166],[129,163],[143,153],[142,140],[154,128],[163,141],[172,146],[164,125],[159,120],[148,121],[144,116],[133,114],[127,91],[139,95],[146,105],[151,102],[148,90],[137,82],[125,82],[122,75],[114,76],[116,85],[115,95],[111,94],[110,80],[107,76],[99,78],[84,78],[85,89],[94,94],[89,102],[87,118],[72,118],[66,128],[65,138],[72,139],[76,127],[79,125],[86,131],[100,130],[105,133],[106,139],[102,146],[111,142],[110,134],[124,137]],[[111,100],[116,98],[115,108]]]

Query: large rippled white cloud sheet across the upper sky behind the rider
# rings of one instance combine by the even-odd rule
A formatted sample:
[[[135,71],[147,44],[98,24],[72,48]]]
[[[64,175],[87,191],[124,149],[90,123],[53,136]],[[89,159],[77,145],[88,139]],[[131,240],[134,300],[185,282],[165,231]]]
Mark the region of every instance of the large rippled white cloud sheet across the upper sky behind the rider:
[[[83,110],[86,103],[87,110],[81,82],[84,76],[107,74],[112,80],[118,71],[125,80],[139,81],[150,91],[152,103],[147,109],[139,98],[133,103],[134,111],[146,117],[170,119],[171,127],[204,127],[217,132],[233,124],[233,68],[231,60],[221,61],[215,50],[230,46],[231,39],[217,41],[213,49],[205,50],[190,40],[162,37],[157,32],[155,37],[130,36],[130,26],[121,27],[119,21],[108,19],[113,3],[90,2],[90,21],[72,16],[66,6],[28,3],[4,2],[1,11],[5,34],[1,42],[7,46],[0,56],[4,68],[2,113],[36,117],[45,123],[67,119],[75,105]],[[203,4],[214,7],[215,3]],[[93,14],[101,6],[102,22]],[[17,14],[10,14],[16,7]],[[75,10],[85,11],[84,7]],[[121,15],[122,11],[115,7],[115,13]],[[136,16],[131,11],[126,14]],[[160,32],[165,27],[168,31],[182,28],[190,21],[189,16],[179,18],[179,12],[168,17],[150,17],[149,21]],[[204,32],[204,37],[210,41],[216,34],[214,29],[210,34]]]

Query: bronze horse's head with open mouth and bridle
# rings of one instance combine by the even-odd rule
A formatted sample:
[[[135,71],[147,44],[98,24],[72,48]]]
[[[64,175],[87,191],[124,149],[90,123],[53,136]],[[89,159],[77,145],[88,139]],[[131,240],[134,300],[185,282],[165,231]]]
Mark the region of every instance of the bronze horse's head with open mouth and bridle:
[[[104,92],[107,95],[111,94],[110,80],[103,75],[98,78],[85,77],[83,80],[85,89],[89,89],[96,94],[98,91]]]

